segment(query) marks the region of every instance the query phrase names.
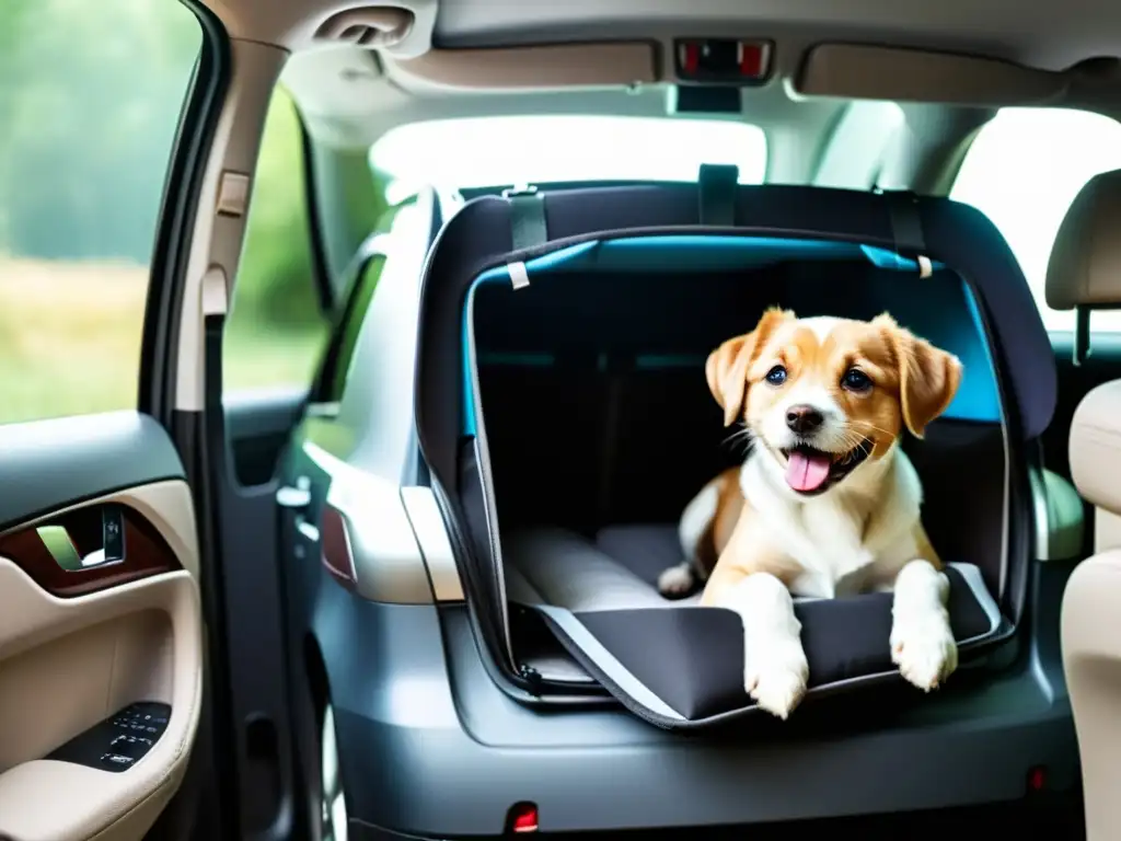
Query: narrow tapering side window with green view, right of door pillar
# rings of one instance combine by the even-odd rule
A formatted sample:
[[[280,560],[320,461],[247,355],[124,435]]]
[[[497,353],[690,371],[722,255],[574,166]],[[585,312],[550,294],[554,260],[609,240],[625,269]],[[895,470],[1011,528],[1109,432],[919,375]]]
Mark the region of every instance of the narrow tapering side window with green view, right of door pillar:
[[[319,301],[296,107],[278,86],[251,184],[245,241],[222,338],[226,392],[311,382],[330,321]]]

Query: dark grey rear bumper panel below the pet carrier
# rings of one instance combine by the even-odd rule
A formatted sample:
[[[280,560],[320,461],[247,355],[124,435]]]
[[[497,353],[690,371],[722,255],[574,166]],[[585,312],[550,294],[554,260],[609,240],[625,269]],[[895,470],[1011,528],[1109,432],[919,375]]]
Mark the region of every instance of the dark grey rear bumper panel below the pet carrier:
[[[1021,797],[1035,765],[1057,788],[1076,774],[1062,673],[1035,646],[980,683],[878,696],[882,715],[862,730],[830,705],[784,726],[751,722],[731,741],[665,732],[614,704],[543,715],[516,703],[487,674],[463,607],[377,604],[323,586],[313,625],[349,814],[393,832],[501,835],[519,800],[539,805],[543,832],[937,808]],[[359,639],[396,641],[370,657]]]

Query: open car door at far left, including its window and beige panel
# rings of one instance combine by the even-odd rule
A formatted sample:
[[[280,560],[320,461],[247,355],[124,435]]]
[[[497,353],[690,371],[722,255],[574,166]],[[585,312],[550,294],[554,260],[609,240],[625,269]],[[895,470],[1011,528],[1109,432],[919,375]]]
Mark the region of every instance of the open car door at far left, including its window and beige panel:
[[[213,47],[175,0],[0,3],[3,838],[194,811],[203,553],[160,395]]]

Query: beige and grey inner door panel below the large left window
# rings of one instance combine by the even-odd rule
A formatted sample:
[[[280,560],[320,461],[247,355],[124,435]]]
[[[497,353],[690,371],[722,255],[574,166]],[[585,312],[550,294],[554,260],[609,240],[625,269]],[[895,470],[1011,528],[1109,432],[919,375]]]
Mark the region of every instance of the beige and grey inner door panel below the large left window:
[[[202,700],[183,468],[158,425],[114,413],[0,426],[0,835],[139,840]]]

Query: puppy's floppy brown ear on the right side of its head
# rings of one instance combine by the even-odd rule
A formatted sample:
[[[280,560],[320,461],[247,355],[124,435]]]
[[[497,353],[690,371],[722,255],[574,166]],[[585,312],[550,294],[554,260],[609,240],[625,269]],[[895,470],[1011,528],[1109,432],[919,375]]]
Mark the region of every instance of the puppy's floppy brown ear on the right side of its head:
[[[962,383],[962,363],[953,353],[898,326],[888,315],[874,323],[888,329],[899,366],[899,403],[904,423],[916,438],[945,412]]]

